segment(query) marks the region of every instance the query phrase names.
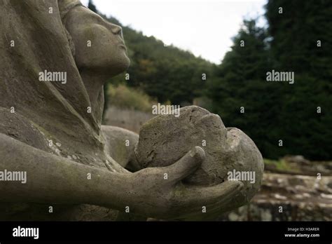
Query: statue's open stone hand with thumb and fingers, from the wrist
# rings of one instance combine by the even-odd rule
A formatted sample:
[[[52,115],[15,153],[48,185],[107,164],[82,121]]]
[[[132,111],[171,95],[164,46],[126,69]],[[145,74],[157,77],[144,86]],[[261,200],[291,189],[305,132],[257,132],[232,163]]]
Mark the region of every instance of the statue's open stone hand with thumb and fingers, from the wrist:
[[[158,219],[203,220],[216,218],[230,207],[240,193],[242,182],[229,181],[211,187],[181,183],[205,159],[200,147],[189,151],[176,163],[160,168],[145,168],[129,176],[128,202],[137,214]],[[203,207],[206,212],[202,212]]]

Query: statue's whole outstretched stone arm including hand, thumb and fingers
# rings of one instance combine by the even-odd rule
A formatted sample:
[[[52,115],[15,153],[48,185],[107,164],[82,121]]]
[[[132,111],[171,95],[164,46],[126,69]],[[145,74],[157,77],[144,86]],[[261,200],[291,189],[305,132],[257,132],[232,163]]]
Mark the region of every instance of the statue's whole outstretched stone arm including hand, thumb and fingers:
[[[243,187],[236,181],[211,187],[181,184],[204,160],[200,147],[167,167],[118,173],[48,154],[0,133],[0,157],[0,171],[27,172],[25,184],[0,181],[3,203],[86,203],[116,210],[129,207],[130,212],[159,219],[204,219],[231,205]],[[202,214],[202,206],[208,214]]]

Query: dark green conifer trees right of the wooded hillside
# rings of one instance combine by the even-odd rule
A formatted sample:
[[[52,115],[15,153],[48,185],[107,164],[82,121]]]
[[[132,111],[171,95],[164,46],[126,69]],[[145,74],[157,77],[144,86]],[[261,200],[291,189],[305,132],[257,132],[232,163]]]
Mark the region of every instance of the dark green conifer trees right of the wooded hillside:
[[[209,82],[214,111],[226,126],[244,130],[265,157],[331,159],[332,2],[270,0],[266,9],[268,29],[245,20]],[[295,72],[295,83],[267,82],[272,69]]]

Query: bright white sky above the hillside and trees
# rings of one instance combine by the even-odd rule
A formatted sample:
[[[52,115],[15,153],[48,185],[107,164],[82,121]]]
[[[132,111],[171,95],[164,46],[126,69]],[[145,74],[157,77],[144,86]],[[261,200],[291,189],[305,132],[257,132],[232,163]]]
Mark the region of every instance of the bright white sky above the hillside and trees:
[[[87,6],[88,0],[81,0]],[[190,50],[220,63],[230,50],[245,17],[263,15],[266,0],[94,0],[97,10],[112,15],[146,36]],[[261,20],[260,25],[264,25]],[[124,36],[125,37],[125,36]]]

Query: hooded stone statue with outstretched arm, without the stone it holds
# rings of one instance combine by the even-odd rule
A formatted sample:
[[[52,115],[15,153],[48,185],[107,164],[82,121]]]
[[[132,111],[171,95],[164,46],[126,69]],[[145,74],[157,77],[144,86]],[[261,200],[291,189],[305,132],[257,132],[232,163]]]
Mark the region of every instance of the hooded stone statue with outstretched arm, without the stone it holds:
[[[1,220],[213,219],[240,194],[240,181],[181,182],[201,147],[141,169],[138,135],[101,126],[103,83],[130,64],[120,27],[78,0],[0,6]]]

